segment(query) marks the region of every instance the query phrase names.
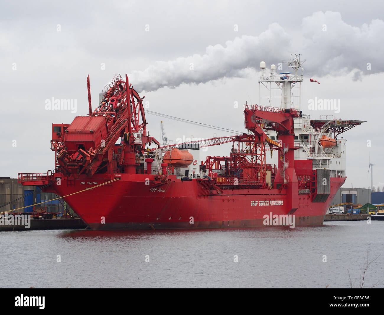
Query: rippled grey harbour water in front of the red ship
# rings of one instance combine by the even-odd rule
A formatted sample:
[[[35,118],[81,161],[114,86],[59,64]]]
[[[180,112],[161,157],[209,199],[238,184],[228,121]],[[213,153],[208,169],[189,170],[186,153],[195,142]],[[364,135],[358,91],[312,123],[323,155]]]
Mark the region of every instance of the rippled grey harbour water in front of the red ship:
[[[367,252],[369,259],[383,253],[384,222],[294,229],[20,231],[0,232],[0,241],[0,287],[5,288],[346,288],[347,270],[358,278]],[[381,255],[366,273],[367,287],[384,280],[383,266]]]

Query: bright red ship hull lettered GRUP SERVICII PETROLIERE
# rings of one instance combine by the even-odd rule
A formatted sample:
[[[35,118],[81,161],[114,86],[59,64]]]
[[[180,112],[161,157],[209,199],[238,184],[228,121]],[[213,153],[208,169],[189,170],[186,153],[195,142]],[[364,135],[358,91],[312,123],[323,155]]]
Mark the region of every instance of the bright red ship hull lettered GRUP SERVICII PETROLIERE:
[[[120,180],[93,189],[89,188],[111,178],[63,179],[61,185],[51,185],[50,191],[61,196],[74,193],[63,199],[93,230],[308,226],[323,224],[331,200],[345,181],[331,178],[325,202],[312,202],[309,193],[299,195],[297,210],[291,210],[285,190],[223,189],[221,195],[209,195],[214,190],[204,191],[197,180],[146,185],[146,177],[121,174]],[[273,215],[288,213],[294,215],[291,222],[274,224],[271,220]]]

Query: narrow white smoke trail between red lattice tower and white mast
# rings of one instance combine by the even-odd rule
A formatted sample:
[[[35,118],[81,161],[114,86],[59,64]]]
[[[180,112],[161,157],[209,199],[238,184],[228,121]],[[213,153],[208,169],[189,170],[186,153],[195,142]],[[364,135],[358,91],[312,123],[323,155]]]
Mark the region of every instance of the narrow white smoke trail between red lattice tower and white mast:
[[[277,23],[258,37],[236,37],[222,45],[208,46],[205,55],[195,54],[176,60],[158,61],[144,71],[128,75],[135,90],[154,91],[175,88],[182,83],[205,83],[220,78],[245,77],[248,68],[258,68],[261,59],[281,60],[281,47],[288,47],[291,36]],[[280,59],[279,59],[280,58]]]

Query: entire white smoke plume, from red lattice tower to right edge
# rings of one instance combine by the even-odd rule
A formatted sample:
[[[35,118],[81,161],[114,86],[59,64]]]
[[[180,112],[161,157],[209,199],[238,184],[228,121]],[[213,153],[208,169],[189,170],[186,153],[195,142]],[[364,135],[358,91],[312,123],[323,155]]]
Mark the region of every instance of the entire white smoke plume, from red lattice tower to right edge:
[[[243,78],[251,69],[258,69],[260,61],[277,63],[298,50],[307,59],[305,68],[310,75],[353,72],[353,79],[358,80],[364,74],[384,71],[380,60],[384,55],[382,20],[353,27],[342,20],[339,12],[315,12],[303,18],[301,27],[302,47],[294,47],[293,36],[273,23],[257,37],[243,35],[227,41],[225,47],[207,47],[204,55],[158,61],[143,71],[133,71],[129,79],[137,92],[149,92],[182,83]]]

